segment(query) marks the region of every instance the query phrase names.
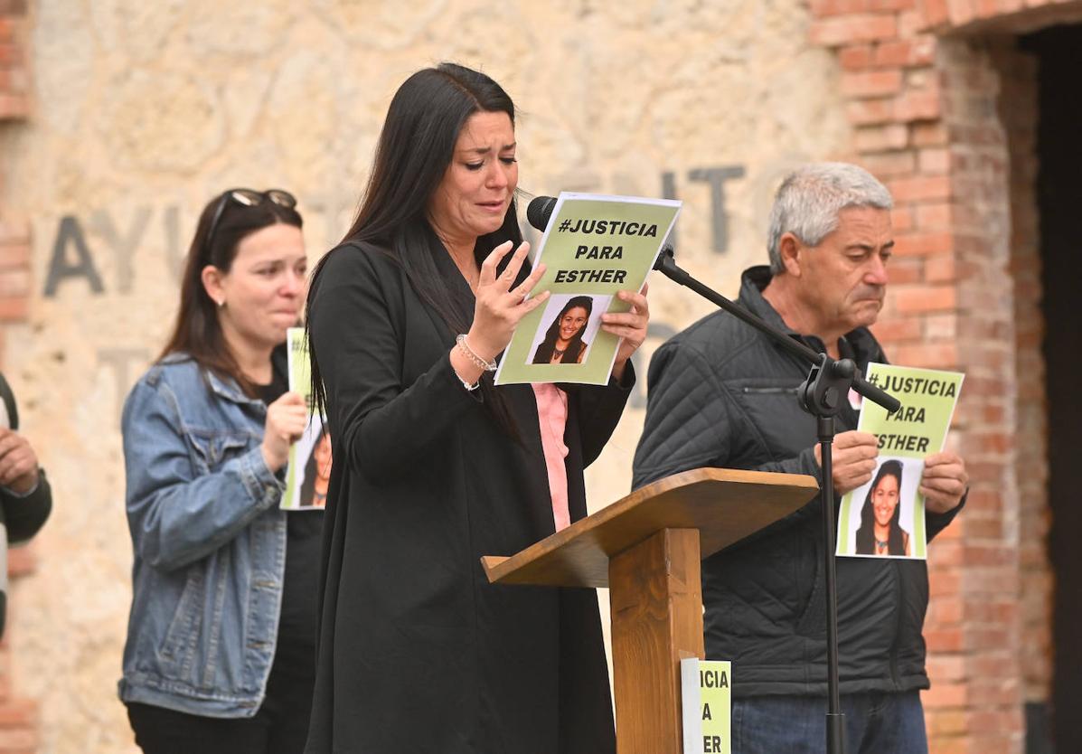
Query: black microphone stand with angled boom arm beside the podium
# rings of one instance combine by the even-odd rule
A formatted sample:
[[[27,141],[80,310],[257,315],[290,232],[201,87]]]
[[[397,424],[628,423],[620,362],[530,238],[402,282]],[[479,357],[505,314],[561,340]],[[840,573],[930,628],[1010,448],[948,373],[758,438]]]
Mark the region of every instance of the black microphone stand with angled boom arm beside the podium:
[[[901,405],[897,398],[866,382],[852,359],[832,359],[827,354],[817,354],[783,332],[775,330],[751,312],[733,303],[721,293],[703,286],[681,269],[673,259],[673,250],[665,247],[654,263],[670,280],[690,288],[703,299],[716,304],[737,319],[755,328],[779,346],[812,365],[807,380],[797,388],[801,408],[816,418],[819,448],[822,455],[822,532],[826,543],[823,551],[823,573],[827,579],[827,752],[845,754],[845,715],[842,713],[842,698],[839,692],[837,671],[837,574],[834,570],[834,485],[833,455],[834,416],[842,410],[852,387],[888,412],[897,411]]]

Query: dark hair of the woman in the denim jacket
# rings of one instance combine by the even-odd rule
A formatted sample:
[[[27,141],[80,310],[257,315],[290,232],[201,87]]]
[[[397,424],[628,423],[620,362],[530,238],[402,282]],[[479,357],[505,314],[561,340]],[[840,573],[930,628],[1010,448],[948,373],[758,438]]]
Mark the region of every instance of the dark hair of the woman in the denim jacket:
[[[225,207],[208,249],[207,234],[210,233],[214,212],[221,201],[225,202]],[[225,194],[220,194],[203,208],[184,263],[184,275],[181,278],[181,308],[176,313],[172,334],[166,347],[161,349],[158,360],[170,354],[187,354],[203,369],[221,378],[235,380],[249,397],[255,397],[255,387],[245,376],[225,342],[222,325],[217,320],[217,306],[203,288],[202,270],[211,264],[223,274],[228,273],[233,261],[237,257],[237,247],[240,241],[256,230],[278,223],[298,228],[304,224],[295,209],[273,201],[261,201],[247,207],[229,200]]]

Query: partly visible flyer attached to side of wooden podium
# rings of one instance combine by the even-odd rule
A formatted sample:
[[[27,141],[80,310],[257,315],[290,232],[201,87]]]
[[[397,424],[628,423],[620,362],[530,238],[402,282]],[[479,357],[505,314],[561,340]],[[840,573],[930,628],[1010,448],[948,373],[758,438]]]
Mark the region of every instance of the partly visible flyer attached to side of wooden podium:
[[[684,754],[730,754],[733,669],[727,660],[679,661]]]

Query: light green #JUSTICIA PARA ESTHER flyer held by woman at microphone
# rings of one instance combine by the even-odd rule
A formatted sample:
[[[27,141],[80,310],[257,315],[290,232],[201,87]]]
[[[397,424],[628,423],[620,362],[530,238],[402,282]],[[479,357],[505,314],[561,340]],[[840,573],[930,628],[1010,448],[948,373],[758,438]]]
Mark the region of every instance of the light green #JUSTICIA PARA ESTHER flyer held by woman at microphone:
[[[500,359],[496,384],[604,385],[619,339],[601,330],[606,312],[626,312],[618,291],[638,291],[682,202],[593,194],[559,195],[533,256],[547,269],[537,287],[552,295],[523,317]]]

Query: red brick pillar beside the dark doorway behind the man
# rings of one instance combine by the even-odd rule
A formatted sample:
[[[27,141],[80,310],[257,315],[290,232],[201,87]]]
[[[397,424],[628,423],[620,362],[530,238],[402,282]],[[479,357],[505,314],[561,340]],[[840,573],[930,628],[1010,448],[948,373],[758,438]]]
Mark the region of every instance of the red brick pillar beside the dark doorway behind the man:
[[[892,293],[876,333],[897,362],[967,373],[954,440],[972,492],[929,556],[932,750],[1020,752],[1022,702],[1048,698],[1052,573],[1037,70],[1010,35],[1080,21],[1082,2],[810,6],[812,39],[843,70],[857,160],[897,201]]]

